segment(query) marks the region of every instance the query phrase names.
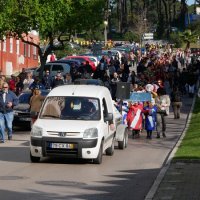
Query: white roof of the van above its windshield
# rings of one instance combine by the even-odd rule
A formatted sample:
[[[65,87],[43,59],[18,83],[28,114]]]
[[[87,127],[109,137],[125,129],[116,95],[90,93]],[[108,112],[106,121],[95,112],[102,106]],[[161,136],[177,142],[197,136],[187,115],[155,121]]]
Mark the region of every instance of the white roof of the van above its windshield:
[[[98,88],[97,88],[98,87]],[[103,95],[104,94],[104,95]],[[104,86],[96,85],[63,85],[51,90],[49,96],[80,96],[101,98],[110,95],[109,90]]]

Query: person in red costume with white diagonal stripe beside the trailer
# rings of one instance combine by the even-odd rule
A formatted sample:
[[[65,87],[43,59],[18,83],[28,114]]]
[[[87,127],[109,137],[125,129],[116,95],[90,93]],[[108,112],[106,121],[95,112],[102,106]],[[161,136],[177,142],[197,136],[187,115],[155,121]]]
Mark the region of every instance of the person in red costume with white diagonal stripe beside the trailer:
[[[140,130],[142,129],[142,110],[143,110],[143,104],[134,102],[133,104],[130,104],[129,111],[127,113],[127,125],[130,130],[132,130],[132,136],[133,139],[135,137],[139,137]]]

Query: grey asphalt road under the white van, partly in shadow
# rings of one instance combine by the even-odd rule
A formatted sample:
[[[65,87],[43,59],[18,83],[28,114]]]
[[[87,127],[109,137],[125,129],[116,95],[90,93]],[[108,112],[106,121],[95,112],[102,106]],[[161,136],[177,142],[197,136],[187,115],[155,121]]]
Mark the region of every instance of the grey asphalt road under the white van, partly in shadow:
[[[18,130],[12,141],[0,144],[0,199],[143,200],[184,127],[192,99],[181,119],[167,119],[167,138],[129,138],[125,150],[115,149],[101,165],[88,161],[51,158],[29,160],[29,132]]]

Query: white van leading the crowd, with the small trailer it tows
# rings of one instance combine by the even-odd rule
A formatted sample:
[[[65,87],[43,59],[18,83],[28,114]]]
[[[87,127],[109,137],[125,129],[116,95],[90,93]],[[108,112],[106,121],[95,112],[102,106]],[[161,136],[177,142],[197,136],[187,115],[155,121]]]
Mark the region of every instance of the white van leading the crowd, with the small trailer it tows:
[[[116,116],[116,118],[115,118]],[[94,85],[64,85],[46,97],[30,137],[30,158],[68,156],[102,162],[127,146],[128,133],[116,114],[109,90]],[[119,125],[119,129],[117,128]]]

